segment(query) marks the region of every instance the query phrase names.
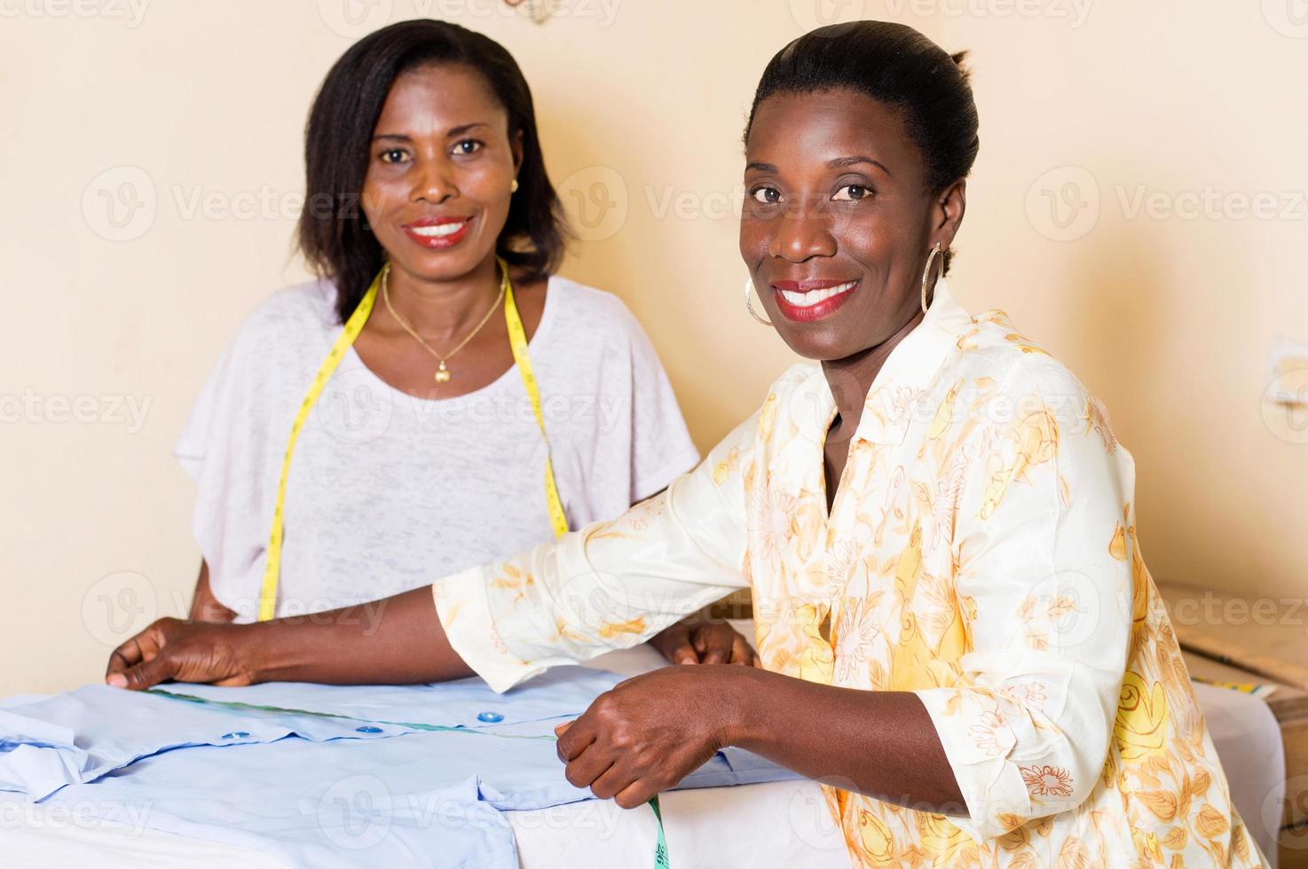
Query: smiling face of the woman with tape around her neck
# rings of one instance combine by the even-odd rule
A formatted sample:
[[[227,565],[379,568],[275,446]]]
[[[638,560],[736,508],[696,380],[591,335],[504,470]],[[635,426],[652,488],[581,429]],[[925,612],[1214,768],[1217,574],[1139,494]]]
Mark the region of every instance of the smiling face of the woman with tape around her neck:
[[[373,132],[362,208],[394,268],[458,280],[493,256],[522,162],[522,136],[466,67],[400,74]]]

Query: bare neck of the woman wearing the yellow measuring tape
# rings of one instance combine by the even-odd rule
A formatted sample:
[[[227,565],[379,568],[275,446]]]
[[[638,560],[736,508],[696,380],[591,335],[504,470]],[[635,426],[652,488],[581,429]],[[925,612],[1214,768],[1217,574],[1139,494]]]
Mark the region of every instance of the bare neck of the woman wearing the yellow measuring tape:
[[[460,340],[494,304],[500,297],[500,269],[492,255],[459,278],[430,281],[392,264],[388,285],[396,314],[439,348]],[[400,331],[385,306],[378,306],[378,312],[386,316],[388,327]]]

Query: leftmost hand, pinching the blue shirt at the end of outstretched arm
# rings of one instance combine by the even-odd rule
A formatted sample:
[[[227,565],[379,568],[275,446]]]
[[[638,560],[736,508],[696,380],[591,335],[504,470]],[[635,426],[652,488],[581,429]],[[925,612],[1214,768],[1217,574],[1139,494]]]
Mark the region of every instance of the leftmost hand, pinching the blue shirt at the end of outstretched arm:
[[[109,657],[105,681],[141,691],[169,680],[252,685],[254,668],[241,655],[243,625],[161,618]]]

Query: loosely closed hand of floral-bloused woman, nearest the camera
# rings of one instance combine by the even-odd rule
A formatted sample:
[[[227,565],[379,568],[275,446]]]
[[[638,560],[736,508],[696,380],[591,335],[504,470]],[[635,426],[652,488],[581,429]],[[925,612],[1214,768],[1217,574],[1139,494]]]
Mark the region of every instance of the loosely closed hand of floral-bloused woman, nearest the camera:
[[[620,682],[555,728],[578,788],[624,809],[676,785],[729,744],[734,694],[749,670],[668,666]]]

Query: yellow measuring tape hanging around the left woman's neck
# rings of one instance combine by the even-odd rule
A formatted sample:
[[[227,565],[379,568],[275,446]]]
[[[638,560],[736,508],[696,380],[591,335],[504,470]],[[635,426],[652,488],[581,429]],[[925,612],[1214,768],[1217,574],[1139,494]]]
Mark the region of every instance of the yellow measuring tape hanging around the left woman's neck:
[[[549,438],[545,435],[545,417],[540,409],[540,387],[536,385],[536,375],[531,369],[531,355],[527,353],[527,332],[522,328],[522,318],[518,316],[518,306],[513,301],[513,284],[509,281],[509,264],[496,257],[500,264],[500,273],[504,276],[504,319],[509,327],[509,346],[513,349],[513,361],[522,374],[522,384],[527,388],[531,399],[531,409],[536,414],[536,425],[540,427],[540,436],[545,440],[545,502],[549,507],[549,524],[555,529],[555,537],[568,533],[568,517],[564,515],[562,499],[559,497],[559,486],[555,485],[555,468],[549,461]],[[263,567],[263,587],[259,589],[259,621],[267,622],[277,609],[277,579],[281,575],[281,536],[284,529],[284,511],[286,506],[286,477],[290,473],[290,456],[296,451],[296,440],[300,438],[309,412],[318,401],[332,372],[340,365],[345,350],[354,344],[358,333],[364,331],[373,306],[377,303],[377,293],[382,285],[382,274],[386,267],[373,278],[371,286],[364,294],[364,299],[354,308],[341,329],[340,337],[332,345],[331,353],[323,359],[314,382],[305,393],[305,400],[300,402],[296,412],[296,421],[290,426],[290,436],[286,440],[286,455],[281,460],[281,477],[277,480],[277,503],[272,510],[272,531],[268,534],[268,561]]]

